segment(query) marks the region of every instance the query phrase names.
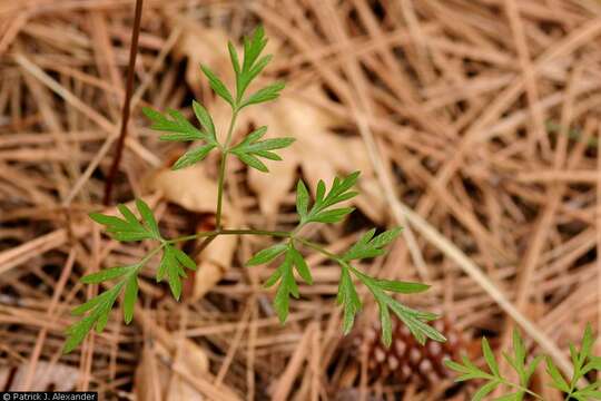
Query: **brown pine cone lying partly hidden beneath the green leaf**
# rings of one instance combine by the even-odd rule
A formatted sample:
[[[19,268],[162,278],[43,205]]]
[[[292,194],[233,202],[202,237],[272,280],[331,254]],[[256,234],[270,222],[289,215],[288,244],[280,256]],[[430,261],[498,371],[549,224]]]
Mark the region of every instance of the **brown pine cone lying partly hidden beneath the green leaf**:
[[[367,374],[371,380],[395,379],[400,382],[430,382],[449,376],[444,366],[447,359],[457,360],[463,353],[461,334],[453,330],[447,320],[441,319],[432,325],[443,333],[446,342],[427,340],[424,345],[415,341],[406,325],[393,321],[392,343],[386,349],[380,339],[380,322],[363,330],[353,341],[354,356],[361,361],[366,355]]]

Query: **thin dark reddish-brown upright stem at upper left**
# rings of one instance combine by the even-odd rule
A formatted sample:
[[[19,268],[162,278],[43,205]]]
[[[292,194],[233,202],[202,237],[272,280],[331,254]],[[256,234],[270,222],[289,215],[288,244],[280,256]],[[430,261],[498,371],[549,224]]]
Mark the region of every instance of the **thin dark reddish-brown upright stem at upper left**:
[[[126,82],[126,98],[124,102],[124,109],[121,111],[121,131],[119,133],[119,139],[117,140],[117,149],[115,150],[115,159],[110,166],[109,174],[107,176],[105,185],[105,199],[104,204],[110,203],[110,195],[117,173],[119,172],[119,164],[124,153],[125,139],[127,137],[127,124],[129,121],[129,111],[131,95],[134,90],[134,71],[136,68],[136,57],[138,56],[138,38],[140,36],[140,20],[142,11],[144,0],[136,0],[136,13],[134,16],[134,28],[131,29],[131,47],[129,48],[129,66],[127,69],[127,82]]]

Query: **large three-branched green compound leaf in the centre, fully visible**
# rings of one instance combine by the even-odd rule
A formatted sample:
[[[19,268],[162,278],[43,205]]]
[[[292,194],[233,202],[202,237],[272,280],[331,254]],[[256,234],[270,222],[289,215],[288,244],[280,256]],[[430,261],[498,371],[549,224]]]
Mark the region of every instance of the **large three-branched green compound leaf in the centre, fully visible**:
[[[122,218],[98,213],[90,217],[106,227],[107,234],[117,241],[151,241],[157,244],[142,260],[129,266],[119,266],[93,273],[81,278],[83,283],[97,284],[106,281],[118,280],[109,290],[76,307],[75,315],[82,319],[72,324],[67,333],[65,352],[70,352],[78,346],[87,333],[96,326],[101,332],[107,324],[109,314],[117,299],[124,292],[122,309],[126,323],[134,315],[134,306],[138,294],[138,273],[152,257],[162,253],[157,271],[157,282],[166,280],[169,283],[173,295],[176,299],[181,294],[181,278],[186,276],[186,268],[195,270],[195,262],[181,252],[177,244],[184,241],[204,238],[200,248],[206,247],[213,239],[220,235],[264,235],[280,238],[280,242],[259,251],[247,263],[248,266],[270,263],[280,260],[279,266],[265,283],[266,287],[277,285],[274,306],[282,323],[288,315],[290,296],[298,297],[298,285],[294,272],[308,284],[313,283],[311,270],[305,262],[302,250],[314,250],[336,262],[341,267],[341,281],[337,302],[343,307],[344,332],[348,333],[353,326],[356,313],[362,303],[355,290],[354,280],[363,283],[374,295],[382,320],[382,341],[391,343],[391,311],[395,313],[411,330],[418,342],[423,343],[426,338],[444,341],[444,336],[427,324],[436,319],[436,315],[410,309],[396,301],[391,293],[418,293],[427,290],[427,285],[421,283],[405,283],[397,281],[380,280],[371,277],[352,265],[352,261],[371,258],[384,254],[384,247],[393,242],[400,234],[398,228],[393,228],[376,235],[375,229],[365,233],[361,239],[348,251],[341,255],[328,252],[324,246],[309,241],[300,235],[307,224],[327,224],[341,222],[353,212],[352,207],[339,204],[357,195],[352,188],[358,179],[359,173],[353,173],[344,178],[335,178],[329,189],[323,180],[316,188],[316,197],[312,203],[309,193],[303,180],[298,182],[296,190],[296,209],[298,224],[290,232],[263,231],[263,229],[227,229],[221,223],[221,204],[225,182],[226,163],[229,156],[237,157],[252,168],[267,172],[267,166],[260,160],[280,160],[275,150],[288,147],[293,138],[262,139],[267,127],[260,127],[248,134],[238,144],[233,144],[233,131],[238,114],[247,106],[274,100],[284,88],[283,82],[275,82],[246,95],[249,84],[267,66],[272,56],[263,56],[267,39],[263,28],[257,28],[250,38],[244,40],[244,59],[240,62],[236,48],[228,43],[229,55],[234,72],[236,75],[236,91],[230,92],[224,82],[206,66],[201,66],[204,75],[208,78],[213,90],[231,107],[231,119],[225,140],[220,141],[217,136],[213,118],[203,105],[193,102],[194,114],[200,123],[200,128],[190,124],[176,110],[168,110],[167,115],[145,108],[145,115],[152,121],[151,128],[165,133],[162,140],[201,141],[201,145],[188,150],[173,166],[174,169],[184,168],[203,160],[210,151],[220,154],[218,175],[218,194],[216,209],[216,228],[210,232],[199,232],[178,238],[165,238],[159,232],[152,212],[141,199],[136,200],[141,221],[138,221],[132,211],[125,205],[119,205]]]

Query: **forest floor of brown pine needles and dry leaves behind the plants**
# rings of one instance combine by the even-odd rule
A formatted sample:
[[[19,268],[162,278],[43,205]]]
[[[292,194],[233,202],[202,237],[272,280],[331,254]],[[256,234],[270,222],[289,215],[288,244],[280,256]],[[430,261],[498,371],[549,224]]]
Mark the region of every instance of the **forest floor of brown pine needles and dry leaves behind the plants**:
[[[102,334],[61,353],[76,319],[69,311],[97,291],[79,278],[145,252],[87,217],[116,211],[102,196],[132,4],[0,2],[0,391],[466,399],[473,389],[451,376],[377,374],[357,359],[353,339],[377,320],[373,301],[361,294],[357,326],[343,336],[339,271],[321,256],[307,257],[315,283],[300,286],[280,325],[262,286],[273,266],[243,267],[267,243],[246,236],[200,254],[179,303],[155,282],[154,261],[134,323],[116,310]],[[485,334],[501,353],[518,326],[529,350],[566,366],[568,344],[587,323],[601,324],[601,2],[146,0],[114,204],[146,199],[171,236],[210,229],[217,159],[171,172],[185,147],[159,141],[140,108],[191,118],[198,99],[224,129],[227,109],[198,67],[231,84],[227,40],[239,43],[259,22],[274,53],[267,76],[287,86],[277,102],[246,113],[235,135],[267,125],[296,143],[269,175],[228,165],[226,226],[289,227],[299,177],[315,187],[362,170],[357,211],[314,227],[313,238],[339,251],[372,226],[403,226],[388,255],[362,268],[431,284],[404,301],[444,315],[446,334],[463,339],[450,352],[477,359]],[[541,387],[545,399],[556,397]]]

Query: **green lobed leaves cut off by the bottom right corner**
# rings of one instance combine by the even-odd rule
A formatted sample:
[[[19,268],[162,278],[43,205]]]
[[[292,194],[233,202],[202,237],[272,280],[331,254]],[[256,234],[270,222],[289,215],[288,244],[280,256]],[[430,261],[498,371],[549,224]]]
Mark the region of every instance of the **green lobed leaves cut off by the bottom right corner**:
[[[484,399],[484,397],[489,395],[500,385],[505,385],[506,388],[511,389],[511,392],[503,397],[496,398],[495,400],[520,401],[523,400],[525,394],[530,394],[538,400],[542,400],[543,398],[540,394],[529,390],[529,385],[532,374],[543,360],[546,362],[546,373],[551,379],[549,385],[563,392],[565,394],[564,400],[601,400],[601,381],[598,380],[589,385],[579,388],[579,382],[584,379],[585,374],[599,371],[601,369],[601,356],[592,355],[593,342],[594,338],[592,330],[590,325],[588,325],[582,336],[580,350],[577,350],[573,344],[570,344],[570,355],[573,364],[573,374],[570,380],[565,380],[563,378],[559,369],[549,356],[538,355],[530,362],[526,362],[526,349],[518,330],[513,331],[513,355],[503,353],[503,358],[518,373],[519,382],[512,382],[510,379],[502,375],[499,369],[499,363],[494,359],[494,354],[486,338],[482,339],[482,353],[484,355],[484,360],[486,361],[489,371],[480,369],[466,356],[463,356],[463,364],[453,361],[446,361],[445,364],[449,369],[461,373],[456,381],[474,379],[484,381],[484,384],[472,398],[472,400],[475,401]]]

